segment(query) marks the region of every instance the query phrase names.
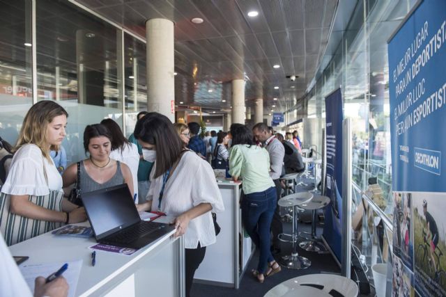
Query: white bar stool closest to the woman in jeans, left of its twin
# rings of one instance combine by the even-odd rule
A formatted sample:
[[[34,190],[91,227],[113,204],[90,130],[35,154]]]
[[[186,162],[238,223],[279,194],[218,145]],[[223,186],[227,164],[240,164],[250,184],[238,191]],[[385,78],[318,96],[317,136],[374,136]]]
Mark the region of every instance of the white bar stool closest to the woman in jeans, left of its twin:
[[[293,244],[291,255],[282,257],[279,263],[291,269],[304,269],[312,265],[312,262],[298,254],[298,206],[312,200],[313,194],[300,192],[285,196],[277,204],[280,207],[293,207],[293,231],[292,234],[281,233],[277,238],[279,241],[291,242]]]

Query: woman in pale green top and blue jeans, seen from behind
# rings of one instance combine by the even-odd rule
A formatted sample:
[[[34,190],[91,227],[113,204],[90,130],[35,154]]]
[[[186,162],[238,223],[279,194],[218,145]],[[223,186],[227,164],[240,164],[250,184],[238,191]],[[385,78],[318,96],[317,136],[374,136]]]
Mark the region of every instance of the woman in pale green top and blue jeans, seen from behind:
[[[270,156],[264,148],[255,145],[252,131],[245,125],[231,126],[231,135],[229,174],[235,181],[243,177],[242,221],[260,249],[259,264],[252,274],[262,283],[266,276],[281,269],[270,251],[271,221],[277,205],[275,184],[269,174]]]

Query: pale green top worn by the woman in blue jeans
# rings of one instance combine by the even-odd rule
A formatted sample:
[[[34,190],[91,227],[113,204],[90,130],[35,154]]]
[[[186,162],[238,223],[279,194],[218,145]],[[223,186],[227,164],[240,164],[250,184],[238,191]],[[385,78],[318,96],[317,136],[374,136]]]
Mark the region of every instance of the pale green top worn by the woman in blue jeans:
[[[229,152],[229,174],[243,178],[243,193],[263,192],[275,186],[270,177],[270,155],[256,145],[234,145]]]

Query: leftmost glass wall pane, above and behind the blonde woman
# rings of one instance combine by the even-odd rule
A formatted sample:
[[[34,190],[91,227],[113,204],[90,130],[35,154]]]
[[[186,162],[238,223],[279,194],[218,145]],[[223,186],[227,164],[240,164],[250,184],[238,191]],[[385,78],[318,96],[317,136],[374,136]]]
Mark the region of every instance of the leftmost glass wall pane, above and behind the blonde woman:
[[[31,1],[0,1],[0,136],[15,145],[33,103]]]

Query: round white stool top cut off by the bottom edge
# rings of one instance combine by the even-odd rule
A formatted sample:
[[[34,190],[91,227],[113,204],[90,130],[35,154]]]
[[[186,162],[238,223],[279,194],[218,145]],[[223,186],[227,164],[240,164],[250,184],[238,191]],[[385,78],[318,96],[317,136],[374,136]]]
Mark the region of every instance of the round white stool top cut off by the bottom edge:
[[[264,297],[344,296],[357,297],[357,284],[335,274],[307,274],[286,280],[268,291]]]

